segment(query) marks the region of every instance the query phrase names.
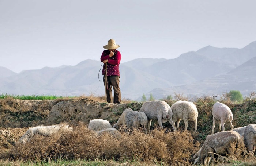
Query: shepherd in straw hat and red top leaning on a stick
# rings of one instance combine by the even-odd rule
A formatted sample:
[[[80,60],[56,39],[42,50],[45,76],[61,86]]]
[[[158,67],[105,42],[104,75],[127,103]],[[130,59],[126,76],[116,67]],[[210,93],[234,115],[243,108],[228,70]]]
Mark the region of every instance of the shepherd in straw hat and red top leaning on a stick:
[[[116,49],[119,45],[116,44],[114,39],[108,40],[108,45],[103,46],[104,50],[101,55],[101,62],[104,63],[102,74],[105,75],[105,65],[107,65],[107,102],[108,103],[120,103],[121,102],[121,91],[119,87],[119,64],[121,61],[121,53]],[[106,88],[105,77],[104,86]],[[112,87],[114,90],[114,101],[112,98]]]

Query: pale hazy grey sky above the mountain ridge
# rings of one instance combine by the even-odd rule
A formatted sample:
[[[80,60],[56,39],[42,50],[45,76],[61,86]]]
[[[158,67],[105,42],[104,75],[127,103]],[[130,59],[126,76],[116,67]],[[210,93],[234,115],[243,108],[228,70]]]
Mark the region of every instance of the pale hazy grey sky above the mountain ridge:
[[[14,72],[99,60],[172,59],[256,41],[255,0],[0,0],[0,66]],[[100,67],[100,66],[99,66]]]

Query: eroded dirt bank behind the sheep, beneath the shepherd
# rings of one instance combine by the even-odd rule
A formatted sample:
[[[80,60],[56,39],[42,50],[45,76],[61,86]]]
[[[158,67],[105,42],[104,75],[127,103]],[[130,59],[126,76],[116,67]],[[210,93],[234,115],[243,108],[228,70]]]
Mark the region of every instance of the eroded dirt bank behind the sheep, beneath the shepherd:
[[[89,98],[69,100],[16,100],[0,99],[0,150],[2,152],[14,147],[19,138],[29,127],[38,125],[52,125],[68,123],[75,125],[78,122],[88,124],[91,119],[106,119],[113,126],[126,108],[139,111],[143,103],[111,104],[99,103]],[[171,105],[172,103],[168,103]],[[193,136],[193,151],[200,148],[212,127],[212,103],[195,103],[199,112],[197,119],[198,132],[193,131],[193,123],[189,122],[188,131]],[[256,124],[256,101],[247,101],[242,104],[227,104],[233,112],[234,127],[243,127]],[[152,121],[151,129],[158,126],[157,121]],[[163,124],[172,130],[169,123]],[[230,130],[229,125],[225,126]],[[218,124],[217,127],[218,128]],[[184,130],[181,121],[179,130]],[[169,132],[167,130],[167,132]]]

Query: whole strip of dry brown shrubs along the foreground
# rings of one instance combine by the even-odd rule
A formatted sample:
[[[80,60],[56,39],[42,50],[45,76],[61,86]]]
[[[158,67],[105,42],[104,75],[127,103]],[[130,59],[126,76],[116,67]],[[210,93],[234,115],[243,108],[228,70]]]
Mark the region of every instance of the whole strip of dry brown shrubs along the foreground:
[[[189,132],[166,132],[154,129],[145,135],[140,130],[121,133],[121,139],[109,134],[97,137],[87,125],[79,122],[73,131],[50,137],[34,136],[29,143],[17,143],[1,158],[41,162],[52,159],[114,159],[169,164],[189,164],[193,138]]]

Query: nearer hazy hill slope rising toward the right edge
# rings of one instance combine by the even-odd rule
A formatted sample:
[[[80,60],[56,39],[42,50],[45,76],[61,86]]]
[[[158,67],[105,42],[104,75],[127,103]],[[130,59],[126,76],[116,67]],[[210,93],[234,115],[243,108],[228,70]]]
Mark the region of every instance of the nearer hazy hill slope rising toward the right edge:
[[[156,88],[148,92],[147,96],[152,93],[156,99],[160,99],[162,96],[174,95],[174,92],[183,93],[186,96],[216,96],[225,92],[228,93],[230,90],[239,90],[244,96],[248,96],[250,92],[256,91],[256,57],[249,59],[226,74],[188,85]]]

